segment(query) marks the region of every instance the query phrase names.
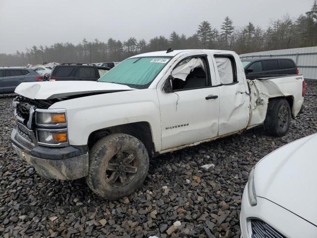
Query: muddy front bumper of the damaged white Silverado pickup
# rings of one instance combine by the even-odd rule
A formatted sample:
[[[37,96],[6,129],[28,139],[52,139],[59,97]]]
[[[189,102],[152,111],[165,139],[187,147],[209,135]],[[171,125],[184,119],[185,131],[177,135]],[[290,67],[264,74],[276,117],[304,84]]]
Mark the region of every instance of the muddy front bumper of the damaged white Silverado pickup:
[[[16,126],[12,130],[11,141],[18,158],[32,165],[46,179],[72,180],[88,175],[87,146],[33,147],[17,132]]]

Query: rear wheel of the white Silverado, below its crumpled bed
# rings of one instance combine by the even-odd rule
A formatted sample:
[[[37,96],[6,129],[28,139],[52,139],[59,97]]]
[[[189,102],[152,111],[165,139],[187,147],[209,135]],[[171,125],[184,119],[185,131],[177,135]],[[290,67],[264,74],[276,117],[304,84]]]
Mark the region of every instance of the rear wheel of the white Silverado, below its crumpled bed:
[[[284,136],[291,123],[291,108],[285,99],[272,99],[268,103],[264,128],[269,135]]]

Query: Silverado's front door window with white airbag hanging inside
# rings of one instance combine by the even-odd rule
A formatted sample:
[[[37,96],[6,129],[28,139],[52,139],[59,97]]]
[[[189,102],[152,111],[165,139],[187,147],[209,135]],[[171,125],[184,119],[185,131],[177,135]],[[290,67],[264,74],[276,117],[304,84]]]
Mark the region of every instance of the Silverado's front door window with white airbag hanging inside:
[[[173,90],[188,90],[210,85],[205,57],[192,57],[181,61],[172,71]]]

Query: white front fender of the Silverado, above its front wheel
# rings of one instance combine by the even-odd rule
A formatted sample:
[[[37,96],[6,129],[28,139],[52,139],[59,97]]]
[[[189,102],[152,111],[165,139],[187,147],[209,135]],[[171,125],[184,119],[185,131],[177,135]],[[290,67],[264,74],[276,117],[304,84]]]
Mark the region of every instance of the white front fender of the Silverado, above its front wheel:
[[[50,108],[65,108],[70,145],[86,145],[89,135],[110,126],[146,121],[160,150],[159,101],[155,89],[115,92],[70,99]]]

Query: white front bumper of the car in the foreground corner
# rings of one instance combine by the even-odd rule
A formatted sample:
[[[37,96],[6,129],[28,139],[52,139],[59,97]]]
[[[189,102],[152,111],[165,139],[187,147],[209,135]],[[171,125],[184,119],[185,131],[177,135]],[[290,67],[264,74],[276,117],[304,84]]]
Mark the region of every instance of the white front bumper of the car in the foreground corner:
[[[250,205],[246,186],[240,213],[241,237],[252,238],[250,220],[259,219],[285,238],[317,238],[316,226],[265,198],[257,197],[257,200],[256,206]]]

